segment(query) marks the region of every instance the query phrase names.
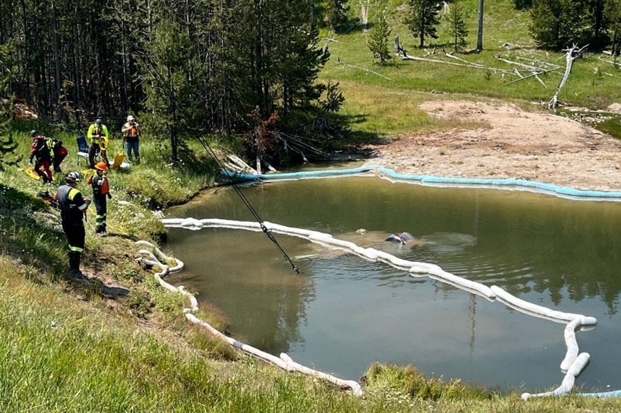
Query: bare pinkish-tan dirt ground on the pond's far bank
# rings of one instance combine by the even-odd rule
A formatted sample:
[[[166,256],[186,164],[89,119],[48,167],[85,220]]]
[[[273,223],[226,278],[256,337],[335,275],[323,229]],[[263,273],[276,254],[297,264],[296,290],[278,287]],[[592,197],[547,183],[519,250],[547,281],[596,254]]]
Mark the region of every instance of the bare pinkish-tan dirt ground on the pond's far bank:
[[[433,117],[482,123],[373,145],[371,163],[405,174],[515,178],[580,190],[621,191],[621,141],[577,121],[507,103],[426,101]]]

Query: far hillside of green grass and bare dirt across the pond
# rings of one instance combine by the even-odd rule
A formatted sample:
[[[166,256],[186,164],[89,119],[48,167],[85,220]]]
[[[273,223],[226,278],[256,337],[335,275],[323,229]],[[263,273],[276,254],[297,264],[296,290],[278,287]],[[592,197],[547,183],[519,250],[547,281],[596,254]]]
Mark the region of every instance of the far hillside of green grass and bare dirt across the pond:
[[[469,30],[466,49],[476,43],[478,3],[460,1]],[[427,60],[395,55],[382,66],[373,61],[362,26],[325,34],[332,58],[322,79],[339,81],[346,97],[342,112],[360,139],[380,137],[367,146],[377,156],[374,164],[409,174],[621,189],[621,70],[610,59],[587,48],[560,90],[564,110],[547,110],[565,58],[535,48],[528,11],[515,10],[510,0],[487,2],[484,50],[456,54],[446,15],[438,39],[420,49],[404,26],[404,4],[392,4],[386,8],[391,37],[399,37],[408,55]],[[371,30],[382,6],[370,8]],[[352,21],[359,17],[359,8],[350,12]],[[528,78],[526,65],[555,69]]]

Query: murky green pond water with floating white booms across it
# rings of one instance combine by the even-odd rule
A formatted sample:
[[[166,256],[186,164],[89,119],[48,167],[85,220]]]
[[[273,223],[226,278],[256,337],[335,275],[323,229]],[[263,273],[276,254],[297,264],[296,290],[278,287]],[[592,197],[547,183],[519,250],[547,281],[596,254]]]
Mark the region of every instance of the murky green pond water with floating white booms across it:
[[[576,386],[621,389],[621,203],[506,190],[431,188],[375,177],[246,186],[262,219],[333,234],[403,259],[440,265],[526,301],[595,316],[578,332],[591,361]],[[253,221],[235,192],[217,190],[168,216]],[[366,234],[357,234],[364,228]],[[412,245],[384,241],[411,232]],[[524,390],[560,385],[564,325],[384,263],[276,235],[295,274],[264,234],[171,229],[186,263],[170,277],[224,312],[235,338],[299,363],[359,379],[373,361],[427,376]]]

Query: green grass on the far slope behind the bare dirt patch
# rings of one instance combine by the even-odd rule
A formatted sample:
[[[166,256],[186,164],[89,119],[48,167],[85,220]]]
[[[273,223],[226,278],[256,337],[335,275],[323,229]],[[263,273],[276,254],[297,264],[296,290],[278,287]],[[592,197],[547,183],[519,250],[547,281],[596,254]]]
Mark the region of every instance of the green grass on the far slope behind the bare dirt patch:
[[[468,46],[476,46],[477,0],[460,0],[466,11],[469,28]],[[399,36],[408,54],[424,57],[425,50],[417,48],[417,39],[402,23],[404,10],[401,1],[379,3],[369,12],[383,10],[388,4],[388,21],[392,36]],[[359,7],[352,7],[352,14],[359,13]],[[540,79],[531,78],[509,84],[519,79],[513,74],[502,74],[493,70],[451,66],[445,63],[402,60],[394,57],[385,66],[373,62],[366,46],[366,34],[362,28],[355,28],[346,34],[324,32],[326,45],[331,50],[331,59],[320,73],[322,81],[339,81],[346,101],[343,113],[353,120],[353,130],[362,134],[391,136],[404,131],[424,131],[436,128],[437,123],[416,110],[416,105],[427,99],[502,99],[505,101],[546,102],[551,99],[562,74],[565,59],[563,53],[536,50],[528,32],[528,12],[513,9],[513,1],[498,0],[486,2],[484,17],[484,50],[480,54],[457,54],[460,59],[491,68],[512,70],[514,66],[496,57],[517,61],[518,58],[534,59],[554,63],[560,68]],[[426,50],[438,46],[435,54],[426,56],[445,62],[463,63],[444,55],[441,47],[450,41],[446,21],[438,30],[439,39],[428,39]],[[391,39],[392,41],[392,39]],[[517,46],[503,46],[505,43]],[[392,47],[392,45],[391,45]],[[446,50],[452,50],[448,46]],[[526,63],[526,61],[522,61]],[[621,101],[621,71],[610,63],[599,59],[599,54],[589,54],[574,61],[571,77],[561,90],[560,101],[587,108],[602,109],[610,103]]]

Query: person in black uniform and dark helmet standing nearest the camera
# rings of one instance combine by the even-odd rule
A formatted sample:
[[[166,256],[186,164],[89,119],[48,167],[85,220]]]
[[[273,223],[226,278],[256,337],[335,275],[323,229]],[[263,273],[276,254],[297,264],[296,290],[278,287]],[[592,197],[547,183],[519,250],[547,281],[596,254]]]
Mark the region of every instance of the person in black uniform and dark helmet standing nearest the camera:
[[[61,185],[56,194],[63,231],[69,244],[69,276],[79,280],[85,278],[80,271],[80,259],[86,238],[82,219],[86,215],[86,208],[90,205],[90,199],[84,199],[76,188],[80,179],[79,172],[69,172],[65,177],[65,185]]]

